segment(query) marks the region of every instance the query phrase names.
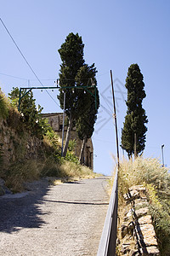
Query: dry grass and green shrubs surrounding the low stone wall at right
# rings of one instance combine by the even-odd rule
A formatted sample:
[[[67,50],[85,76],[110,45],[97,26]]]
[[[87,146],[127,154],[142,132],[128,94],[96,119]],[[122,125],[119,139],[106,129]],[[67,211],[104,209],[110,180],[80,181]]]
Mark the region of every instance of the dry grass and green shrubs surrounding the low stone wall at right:
[[[170,173],[157,159],[123,160],[119,171],[119,209],[123,205],[122,195],[138,184],[147,188],[161,255],[170,255]]]

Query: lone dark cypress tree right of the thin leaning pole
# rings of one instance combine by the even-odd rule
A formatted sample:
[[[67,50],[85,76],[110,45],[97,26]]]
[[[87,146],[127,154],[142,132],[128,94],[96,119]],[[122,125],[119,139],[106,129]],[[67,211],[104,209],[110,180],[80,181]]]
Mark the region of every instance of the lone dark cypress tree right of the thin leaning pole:
[[[144,150],[147,131],[145,124],[148,123],[144,108],[142,108],[142,101],[146,95],[143,75],[140,73],[138,64],[132,64],[128,68],[125,86],[127,88],[127,115],[122,129],[122,148],[127,151],[130,158],[134,154],[134,148],[136,148],[136,154]]]

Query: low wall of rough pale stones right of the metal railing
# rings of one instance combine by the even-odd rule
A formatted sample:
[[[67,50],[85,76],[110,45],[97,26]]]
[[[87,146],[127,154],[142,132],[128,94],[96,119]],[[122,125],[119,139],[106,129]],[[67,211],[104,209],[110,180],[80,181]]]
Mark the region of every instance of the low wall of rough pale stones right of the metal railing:
[[[160,255],[156,232],[149,212],[146,189],[131,187],[124,195],[127,206],[121,224],[121,255]]]

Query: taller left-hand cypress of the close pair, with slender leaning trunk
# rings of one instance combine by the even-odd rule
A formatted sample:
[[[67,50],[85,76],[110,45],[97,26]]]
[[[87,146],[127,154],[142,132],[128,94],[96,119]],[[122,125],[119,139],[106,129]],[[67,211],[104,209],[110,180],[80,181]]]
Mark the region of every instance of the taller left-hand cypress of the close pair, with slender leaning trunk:
[[[66,155],[69,145],[71,129],[74,120],[80,115],[80,98],[82,96],[81,90],[78,90],[76,77],[78,70],[84,65],[83,59],[84,44],[82,44],[82,37],[78,33],[70,33],[65,43],[59,49],[59,55],[62,61],[59,70],[59,102],[60,107],[64,108],[64,91],[65,91],[65,113],[69,119],[68,129],[65,137],[65,147],[63,155]],[[74,90],[65,89],[66,86],[75,87]]]

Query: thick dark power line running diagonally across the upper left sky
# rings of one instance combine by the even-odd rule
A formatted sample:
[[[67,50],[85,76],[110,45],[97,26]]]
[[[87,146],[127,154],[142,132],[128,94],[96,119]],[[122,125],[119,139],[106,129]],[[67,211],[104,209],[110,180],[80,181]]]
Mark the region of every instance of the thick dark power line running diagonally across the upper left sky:
[[[22,53],[22,51],[20,50],[19,46],[16,44],[16,42],[14,41],[14,38],[12,37],[12,35],[10,34],[10,32],[8,31],[7,26],[5,26],[3,20],[0,18],[6,32],[8,32],[9,37],[11,38],[11,40],[13,41],[14,45],[16,46],[16,48],[19,50],[20,55],[23,57],[23,59],[26,61],[26,64],[28,65],[28,67],[30,67],[31,72],[35,75],[35,77],[37,78],[38,82],[40,84],[42,84],[41,80],[37,77],[37,73],[34,72],[33,68],[31,67],[31,65],[29,64],[29,62],[26,60],[25,55]],[[42,84],[42,87],[44,87],[44,85]],[[50,98],[59,106],[59,104],[54,100],[54,97],[50,95],[50,93],[48,92],[48,90],[46,90],[46,92],[48,93],[48,96],[50,96]],[[60,108],[60,107],[59,107]]]

